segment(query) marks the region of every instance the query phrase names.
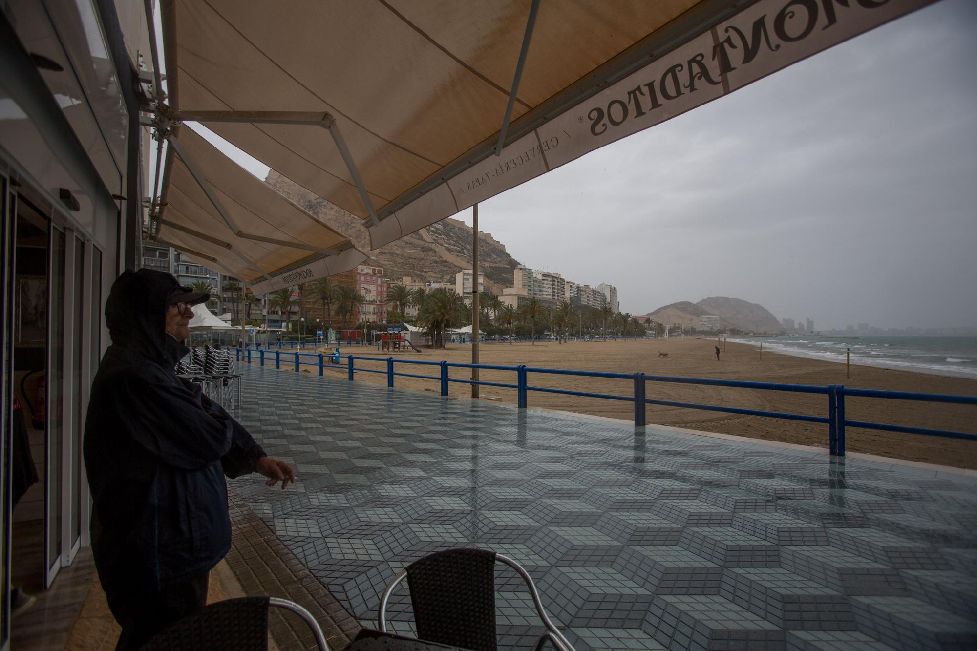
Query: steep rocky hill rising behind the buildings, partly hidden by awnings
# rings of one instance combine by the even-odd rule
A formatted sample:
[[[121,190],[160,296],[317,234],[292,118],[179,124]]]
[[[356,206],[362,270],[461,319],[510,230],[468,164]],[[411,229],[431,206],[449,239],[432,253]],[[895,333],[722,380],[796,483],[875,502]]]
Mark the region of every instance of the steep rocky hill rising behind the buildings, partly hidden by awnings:
[[[292,183],[272,171],[265,180],[282,195],[316,215],[329,226],[353,240],[353,243],[383,267],[391,282],[409,276],[416,281],[454,282],[454,275],[472,268],[472,229],[455,219],[433,224],[406,238],[370,250],[369,236],[359,217],[329,203],[319,195]],[[505,244],[488,233],[479,236],[479,268],[485,274],[486,289],[501,294],[511,287],[512,272],[519,264],[505,250]]]

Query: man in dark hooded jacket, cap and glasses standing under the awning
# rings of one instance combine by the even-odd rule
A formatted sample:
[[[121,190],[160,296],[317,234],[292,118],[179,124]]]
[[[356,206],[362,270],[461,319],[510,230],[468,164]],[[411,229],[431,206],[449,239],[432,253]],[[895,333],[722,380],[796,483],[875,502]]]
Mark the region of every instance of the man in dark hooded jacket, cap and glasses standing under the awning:
[[[95,564],[122,626],[117,649],[139,648],[206,603],[208,573],[231,548],[225,475],[294,482],[174,371],[189,352],[191,306],[208,298],[141,269],[123,273],[106,301],[112,345],[92,384],[84,453]]]

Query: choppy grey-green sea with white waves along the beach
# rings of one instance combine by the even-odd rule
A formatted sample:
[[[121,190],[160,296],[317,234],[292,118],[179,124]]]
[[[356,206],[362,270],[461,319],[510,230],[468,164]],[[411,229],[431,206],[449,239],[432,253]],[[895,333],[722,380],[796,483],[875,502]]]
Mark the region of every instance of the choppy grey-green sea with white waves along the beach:
[[[977,337],[787,336],[728,340],[754,346],[762,341],[763,350],[773,353],[842,364],[845,351],[851,350],[852,364],[977,379]]]

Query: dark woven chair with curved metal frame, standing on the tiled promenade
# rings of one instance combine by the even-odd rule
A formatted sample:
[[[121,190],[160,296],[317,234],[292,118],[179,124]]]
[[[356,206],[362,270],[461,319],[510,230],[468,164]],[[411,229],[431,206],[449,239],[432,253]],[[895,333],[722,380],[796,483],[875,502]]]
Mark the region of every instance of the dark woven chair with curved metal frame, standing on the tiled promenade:
[[[536,649],[548,639],[558,651],[573,651],[573,645],[546,615],[530,574],[511,558],[488,549],[445,549],[405,567],[380,597],[380,630],[387,632],[387,602],[394,588],[406,578],[419,638],[475,651],[496,651],[496,561],[516,570],[530,589],[536,613],[547,630]]]

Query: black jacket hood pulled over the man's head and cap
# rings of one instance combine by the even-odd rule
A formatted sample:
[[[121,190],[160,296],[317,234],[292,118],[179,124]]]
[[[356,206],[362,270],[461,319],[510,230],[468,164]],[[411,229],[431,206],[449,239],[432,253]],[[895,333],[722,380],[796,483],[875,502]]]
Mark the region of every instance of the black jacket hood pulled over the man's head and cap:
[[[112,344],[164,366],[176,366],[189,351],[166,332],[166,311],[178,290],[180,282],[164,272],[123,272],[112,283],[106,300],[106,325]]]

